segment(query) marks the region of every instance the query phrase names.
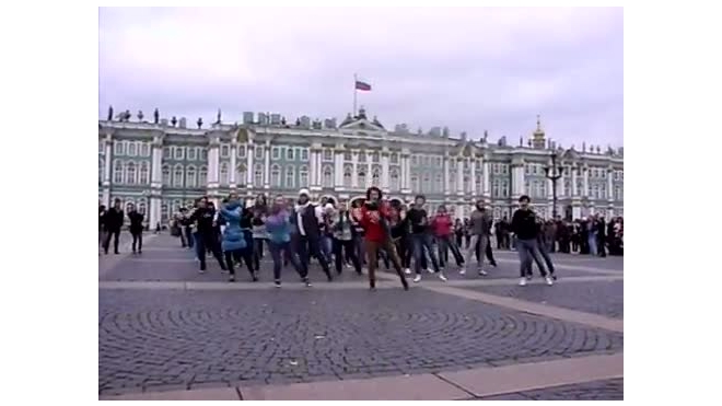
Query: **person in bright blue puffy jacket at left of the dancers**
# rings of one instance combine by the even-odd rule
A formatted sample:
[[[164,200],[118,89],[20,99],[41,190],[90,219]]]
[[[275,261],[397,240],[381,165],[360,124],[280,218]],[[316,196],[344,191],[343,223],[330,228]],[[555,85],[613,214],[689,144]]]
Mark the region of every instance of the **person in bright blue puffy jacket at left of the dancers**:
[[[225,254],[225,265],[231,274],[229,280],[235,280],[235,270],[233,269],[233,260],[241,263],[241,258],[248,267],[251,278],[253,281],[258,280],[258,276],[253,268],[252,252],[247,248],[247,242],[243,230],[241,229],[241,219],[243,218],[243,207],[238,200],[238,196],[232,193],[228,199],[223,199],[221,216],[225,221],[225,229],[223,230],[223,240],[221,248]]]

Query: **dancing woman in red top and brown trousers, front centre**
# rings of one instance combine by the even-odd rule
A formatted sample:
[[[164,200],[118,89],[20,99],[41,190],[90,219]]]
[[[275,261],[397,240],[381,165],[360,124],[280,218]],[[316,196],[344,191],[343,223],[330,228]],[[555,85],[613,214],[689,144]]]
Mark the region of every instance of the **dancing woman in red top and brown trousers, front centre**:
[[[409,289],[406,277],[401,271],[401,262],[396,254],[396,248],[391,237],[391,230],[388,228],[389,207],[386,201],[381,200],[381,189],[377,187],[370,187],[366,190],[366,201],[358,214],[358,221],[364,230],[363,244],[366,252],[366,260],[369,263],[369,286],[371,289],[376,288],[376,268],[379,267],[379,250],[384,250],[389,259],[394,264],[396,274],[401,280],[405,290]]]

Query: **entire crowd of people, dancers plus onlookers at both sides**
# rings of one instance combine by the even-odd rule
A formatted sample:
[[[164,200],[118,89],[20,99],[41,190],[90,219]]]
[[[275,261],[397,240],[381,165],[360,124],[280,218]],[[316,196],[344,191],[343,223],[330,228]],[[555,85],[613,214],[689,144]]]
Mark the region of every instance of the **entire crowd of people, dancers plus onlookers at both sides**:
[[[406,277],[414,275],[419,282],[424,272],[446,281],[450,253],[456,270],[465,275],[476,260],[476,272],[488,275],[488,266],[496,267],[492,236],[498,250],[515,250],[520,257],[520,285],[532,278],[536,264],[547,285],[557,276],[549,253],[579,252],[590,255],[621,255],[622,220],[605,223],[601,217],[574,222],[544,221],[529,207],[528,196],[519,200],[520,208],[512,220],[493,223],[482,200],[478,200],[467,219],[453,219],[444,206],[435,213],[427,211],[423,195],[406,205],[388,200],[381,189],[371,187],[365,199],[337,204],[322,198],[310,199],[307,189],[299,192],[298,199],[277,196],[268,201],[258,195],[249,201],[232,193],[219,208],[207,197],[196,200],[193,208],[182,208],[171,220],[171,234],[183,247],[195,252],[199,271],[206,272],[207,257],[212,256],[229,280],[235,281],[236,267],[245,265],[252,281],[257,281],[260,259],[270,254],[273,281],[281,286],[281,272],[289,265],[306,286],[311,286],[308,268],[318,263],[326,279],[352,268],[363,275],[366,269],[369,287],[375,289],[376,270],[383,263],[394,270],[404,289]],[[118,235],[125,213],[118,199],[106,210],[100,207],[98,243],[107,254],[112,237],[118,254]],[[127,207],[129,230],[133,237],[133,254],[142,252],[143,214]],[[485,264],[485,258],[488,266]]]

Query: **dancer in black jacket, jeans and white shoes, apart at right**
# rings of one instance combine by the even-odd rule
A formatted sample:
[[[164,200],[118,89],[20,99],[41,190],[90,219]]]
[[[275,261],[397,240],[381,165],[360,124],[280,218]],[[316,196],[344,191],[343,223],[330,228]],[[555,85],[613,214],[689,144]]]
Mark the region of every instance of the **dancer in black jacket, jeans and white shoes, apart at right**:
[[[532,268],[532,259],[539,266],[539,272],[547,281],[547,285],[554,285],[551,277],[547,275],[547,270],[543,264],[542,253],[537,243],[539,235],[539,225],[537,223],[536,214],[529,209],[529,197],[523,195],[519,198],[520,208],[514,211],[512,217],[512,232],[516,234],[516,251],[520,259],[520,286],[526,285],[526,271]]]

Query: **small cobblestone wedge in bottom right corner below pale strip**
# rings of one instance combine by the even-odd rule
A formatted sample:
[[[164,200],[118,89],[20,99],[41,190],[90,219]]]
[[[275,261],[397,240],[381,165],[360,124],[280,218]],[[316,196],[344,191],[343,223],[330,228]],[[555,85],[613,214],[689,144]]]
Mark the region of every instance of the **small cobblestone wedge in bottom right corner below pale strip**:
[[[625,380],[587,382],[578,385],[546,387],[469,401],[624,401]]]

